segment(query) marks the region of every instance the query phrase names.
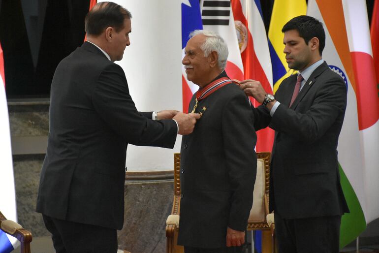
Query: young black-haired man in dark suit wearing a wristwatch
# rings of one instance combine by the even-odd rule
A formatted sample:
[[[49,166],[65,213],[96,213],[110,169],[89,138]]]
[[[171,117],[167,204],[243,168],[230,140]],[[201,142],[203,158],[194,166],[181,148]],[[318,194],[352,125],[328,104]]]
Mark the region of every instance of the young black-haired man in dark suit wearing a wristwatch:
[[[270,179],[280,253],[337,253],[341,216],[348,212],[340,184],[338,136],[344,121],[347,88],[321,59],[322,24],[299,16],[283,29],[288,67],[299,70],[273,95],[259,82],[240,87],[263,103],[256,109],[255,129],[275,130]]]

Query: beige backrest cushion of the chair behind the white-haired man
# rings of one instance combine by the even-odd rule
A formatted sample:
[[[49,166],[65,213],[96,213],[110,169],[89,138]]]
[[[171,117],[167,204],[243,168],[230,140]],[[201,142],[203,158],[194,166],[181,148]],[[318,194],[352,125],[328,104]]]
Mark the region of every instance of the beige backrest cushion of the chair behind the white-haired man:
[[[263,222],[264,221],[264,191],[265,191],[265,178],[264,178],[264,160],[257,159],[256,164],[256,178],[253,191],[253,206],[250,210],[250,222]]]

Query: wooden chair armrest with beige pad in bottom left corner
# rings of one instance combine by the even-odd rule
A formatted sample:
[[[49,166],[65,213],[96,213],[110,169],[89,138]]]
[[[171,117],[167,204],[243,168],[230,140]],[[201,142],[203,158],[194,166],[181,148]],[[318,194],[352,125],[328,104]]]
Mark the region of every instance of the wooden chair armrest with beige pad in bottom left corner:
[[[30,243],[32,242],[32,233],[24,229],[19,223],[7,220],[1,212],[0,229],[20,241],[21,253],[31,253]]]

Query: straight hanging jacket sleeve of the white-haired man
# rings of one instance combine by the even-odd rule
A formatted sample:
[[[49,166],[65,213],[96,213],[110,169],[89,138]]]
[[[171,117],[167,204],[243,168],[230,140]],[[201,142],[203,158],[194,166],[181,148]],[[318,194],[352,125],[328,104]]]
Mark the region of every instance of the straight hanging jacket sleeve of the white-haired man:
[[[232,188],[228,226],[245,231],[256,176],[253,113],[246,96],[241,93],[229,99],[222,115],[226,166]]]

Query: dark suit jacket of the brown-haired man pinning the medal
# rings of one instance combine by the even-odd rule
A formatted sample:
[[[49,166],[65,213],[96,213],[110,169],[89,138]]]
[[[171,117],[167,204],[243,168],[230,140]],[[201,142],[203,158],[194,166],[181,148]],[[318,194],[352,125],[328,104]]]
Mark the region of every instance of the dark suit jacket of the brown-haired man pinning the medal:
[[[121,229],[127,144],[173,148],[176,140],[176,123],[151,115],[136,110],[123,69],[95,45],[64,58],[51,86],[37,212]]]

